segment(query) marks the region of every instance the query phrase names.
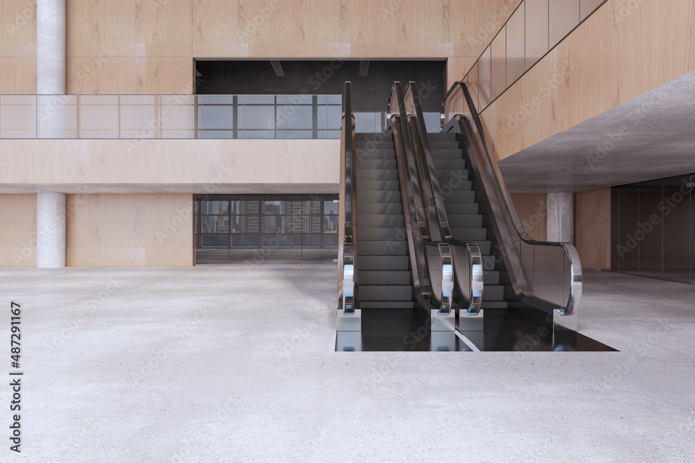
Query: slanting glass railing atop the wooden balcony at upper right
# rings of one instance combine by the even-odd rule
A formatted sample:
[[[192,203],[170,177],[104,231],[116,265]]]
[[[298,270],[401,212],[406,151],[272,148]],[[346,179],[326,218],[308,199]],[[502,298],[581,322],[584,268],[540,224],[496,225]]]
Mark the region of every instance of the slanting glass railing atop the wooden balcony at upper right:
[[[461,79],[481,112],[606,0],[523,0]],[[559,63],[559,66],[566,63]],[[571,69],[571,68],[570,68]]]

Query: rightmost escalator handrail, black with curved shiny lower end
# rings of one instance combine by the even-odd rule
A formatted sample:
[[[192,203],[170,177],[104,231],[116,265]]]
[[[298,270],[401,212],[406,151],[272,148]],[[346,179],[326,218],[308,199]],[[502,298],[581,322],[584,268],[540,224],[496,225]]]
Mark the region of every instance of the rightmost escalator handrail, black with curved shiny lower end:
[[[516,210],[516,207],[514,207],[514,201],[512,201],[512,196],[509,194],[509,190],[507,189],[507,185],[504,183],[504,180],[502,180],[502,174],[500,172],[500,168],[498,165],[498,162],[496,160],[493,160],[493,157],[490,154],[490,150],[488,147],[488,144],[485,140],[485,134],[482,126],[482,122],[480,121],[480,116],[477,113],[477,110],[475,110],[475,105],[473,104],[473,99],[471,98],[471,93],[468,91],[468,87],[464,82],[456,82],[454,85],[452,85],[449,90],[446,92],[444,95],[444,98],[442,99],[441,102],[441,110],[440,110],[440,119],[441,119],[441,127],[442,131],[445,130],[445,128],[450,128],[452,124],[462,124],[461,119],[466,119],[468,121],[467,115],[461,115],[457,114],[450,119],[450,121],[445,121],[445,104],[449,96],[457,91],[461,90],[462,94],[464,95],[464,99],[466,101],[466,106],[468,106],[468,109],[471,111],[470,112],[470,117],[473,119],[473,124],[475,124],[475,130],[477,131],[478,137],[480,137],[480,142],[482,144],[483,151],[485,153],[485,160],[487,162],[488,167],[491,168],[491,173],[493,174],[492,180],[496,183],[496,186],[498,190],[500,190],[500,193],[502,194],[502,200],[503,203],[501,206],[505,212],[509,215],[509,217],[512,219],[512,225],[514,228],[514,231],[516,232],[516,235],[518,235],[518,238],[525,242],[526,244],[529,244],[531,246],[556,246],[556,247],[562,247],[564,249],[564,254],[569,261],[569,266],[570,266],[570,288],[569,288],[569,296],[567,303],[564,307],[561,308],[556,308],[557,312],[561,315],[571,315],[576,312],[579,303],[581,301],[581,296],[582,296],[582,265],[579,257],[579,253],[575,249],[575,247],[571,243],[561,243],[561,242],[543,242],[543,241],[537,241],[535,239],[532,239],[530,235],[526,232],[525,228],[523,227],[523,224],[521,223],[521,219],[518,216],[518,212]],[[470,124],[470,121],[468,121],[468,124]],[[473,128],[473,127],[471,127]],[[473,133],[473,131],[471,131]],[[486,183],[482,183],[482,187],[484,187],[486,190],[489,188],[489,185],[486,185]],[[490,201],[493,201],[494,198],[496,198],[496,195],[494,192],[487,192],[487,196]],[[500,205],[498,205],[500,206]],[[500,208],[500,210],[502,210]],[[498,217],[493,217],[493,220],[498,220]],[[500,227],[501,228],[501,227]],[[508,229],[508,227],[505,227]],[[506,256],[506,255],[505,255]],[[516,287],[521,287],[521,285],[518,284],[518,282],[513,282],[515,283]]]

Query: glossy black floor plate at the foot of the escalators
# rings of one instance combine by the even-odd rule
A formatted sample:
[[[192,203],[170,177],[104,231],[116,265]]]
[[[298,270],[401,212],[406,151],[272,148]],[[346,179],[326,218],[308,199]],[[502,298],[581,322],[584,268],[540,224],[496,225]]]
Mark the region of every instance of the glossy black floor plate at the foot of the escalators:
[[[336,351],[404,352],[590,352],[614,348],[575,331],[553,332],[544,312],[487,310],[482,332],[433,332],[413,309],[362,311],[361,332],[337,332]]]

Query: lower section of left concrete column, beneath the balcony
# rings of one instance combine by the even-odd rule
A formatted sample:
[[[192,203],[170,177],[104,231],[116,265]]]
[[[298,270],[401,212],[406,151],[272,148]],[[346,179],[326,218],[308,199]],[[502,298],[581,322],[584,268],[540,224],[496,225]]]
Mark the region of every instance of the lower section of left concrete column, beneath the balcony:
[[[65,193],[36,195],[36,267],[65,267]]]

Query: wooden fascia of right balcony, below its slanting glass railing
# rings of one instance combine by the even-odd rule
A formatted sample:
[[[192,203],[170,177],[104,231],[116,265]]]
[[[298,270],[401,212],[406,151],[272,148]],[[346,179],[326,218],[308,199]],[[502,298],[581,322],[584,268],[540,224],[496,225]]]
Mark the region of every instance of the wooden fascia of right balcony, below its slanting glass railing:
[[[482,119],[504,159],[694,69],[694,0],[609,0]]]

